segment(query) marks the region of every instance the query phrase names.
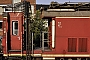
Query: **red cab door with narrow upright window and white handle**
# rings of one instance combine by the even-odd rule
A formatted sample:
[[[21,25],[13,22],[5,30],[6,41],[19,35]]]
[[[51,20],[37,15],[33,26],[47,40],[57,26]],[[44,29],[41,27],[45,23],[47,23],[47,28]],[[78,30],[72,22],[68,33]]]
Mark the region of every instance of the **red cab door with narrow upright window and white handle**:
[[[10,14],[10,44],[11,50],[22,49],[22,34],[23,34],[23,14],[22,13],[9,13]]]

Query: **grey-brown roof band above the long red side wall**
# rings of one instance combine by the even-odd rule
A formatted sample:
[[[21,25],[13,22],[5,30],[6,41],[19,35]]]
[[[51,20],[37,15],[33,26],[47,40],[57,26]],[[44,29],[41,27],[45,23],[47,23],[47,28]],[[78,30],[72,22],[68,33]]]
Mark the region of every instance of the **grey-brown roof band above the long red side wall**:
[[[90,11],[42,12],[42,17],[90,17]]]

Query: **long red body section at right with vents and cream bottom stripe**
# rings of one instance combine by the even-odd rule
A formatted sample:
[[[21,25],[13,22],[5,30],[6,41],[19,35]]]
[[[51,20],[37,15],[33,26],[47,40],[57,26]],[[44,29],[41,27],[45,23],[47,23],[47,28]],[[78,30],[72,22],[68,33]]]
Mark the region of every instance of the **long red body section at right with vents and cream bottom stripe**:
[[[49,23],[49,32],[52,32],[52,21]],[[34,53],[43,57],[89,57],[89,33],[89,17],[55,17],[55,48],[44,52],[35,50]]]

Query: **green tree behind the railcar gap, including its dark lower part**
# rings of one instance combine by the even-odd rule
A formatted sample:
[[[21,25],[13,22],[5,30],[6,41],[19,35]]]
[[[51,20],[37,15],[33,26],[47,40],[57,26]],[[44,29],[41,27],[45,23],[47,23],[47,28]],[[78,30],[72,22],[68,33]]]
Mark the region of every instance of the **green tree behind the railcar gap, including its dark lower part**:
[[[33,22],[31,24],[31,31],[34,33],[34,46],[39,47],[40,46],[40,33],[42,31],[47,31],[47,28],[45,27],[45,20],[41,19],[41,13],[39,10],[36,11],[36,15],[33,19]]]

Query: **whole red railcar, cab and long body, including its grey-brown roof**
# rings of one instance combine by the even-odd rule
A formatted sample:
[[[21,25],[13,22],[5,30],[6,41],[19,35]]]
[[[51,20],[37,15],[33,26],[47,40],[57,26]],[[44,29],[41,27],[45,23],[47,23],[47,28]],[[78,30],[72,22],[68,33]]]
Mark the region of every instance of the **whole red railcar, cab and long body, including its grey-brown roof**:
[[[89,60],[90,11],[62,10],[42,12],[43,18],[48,18],[48,48],[45,47],[46,39],[43,37],[45,32],[42,32],[42,49],[28,52],[37,60],[39,58],[43,60]],[[3,56],[27,56],[26,49],[23,49],[25,45],[23,24],[22,12],[11,12],[5,15],[2,39]]]

